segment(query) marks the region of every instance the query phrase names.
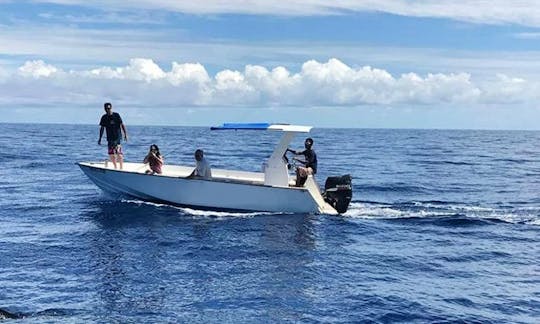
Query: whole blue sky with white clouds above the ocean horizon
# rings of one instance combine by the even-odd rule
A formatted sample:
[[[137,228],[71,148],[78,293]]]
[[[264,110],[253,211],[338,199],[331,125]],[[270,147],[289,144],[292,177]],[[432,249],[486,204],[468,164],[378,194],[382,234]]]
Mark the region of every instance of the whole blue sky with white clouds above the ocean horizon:
[[[539,40],[532,0],[0,0],[0,122],[540,129]]]

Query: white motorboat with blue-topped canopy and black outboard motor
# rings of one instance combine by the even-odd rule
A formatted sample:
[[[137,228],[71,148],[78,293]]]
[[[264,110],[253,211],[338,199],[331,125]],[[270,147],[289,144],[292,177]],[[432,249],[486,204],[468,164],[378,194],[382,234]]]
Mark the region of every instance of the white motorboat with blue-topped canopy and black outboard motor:
[[[125,162],[122,170],[107,162],[79,162],[82,171],[102,190],[141,200],[178,206],[232,211],[338,214],[347,210],[352,196],[351,177],[330,177],[321,192],[315,177],[295,186],[284,158],[298,133],[310,126],[286,124],[223,124],[212,130],[269,130],[282,132],[281,140],[264,163],[264,172],[212,168],[211,179],[186,178],[193,166],[163,165],[162,174],[146,174],[143,163]]]

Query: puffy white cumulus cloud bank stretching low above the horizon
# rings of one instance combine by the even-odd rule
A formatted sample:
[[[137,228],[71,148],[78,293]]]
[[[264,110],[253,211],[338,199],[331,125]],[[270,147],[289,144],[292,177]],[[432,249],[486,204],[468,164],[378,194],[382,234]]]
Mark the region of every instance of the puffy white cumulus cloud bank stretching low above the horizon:
[[[153,107],[311,107],[399,105],[505,105],[537,103],[538,82],[506,74],[475,80],[465,72],[392,75],[371,66],[350,67],[339,59],[306,61],[300,71],[246,65],[243,71],[210,75],[199,63],[152,59],[126,66],[63,70],[42,60],[16,70],[0,66],[0,105],[95,105],[112,100]]]

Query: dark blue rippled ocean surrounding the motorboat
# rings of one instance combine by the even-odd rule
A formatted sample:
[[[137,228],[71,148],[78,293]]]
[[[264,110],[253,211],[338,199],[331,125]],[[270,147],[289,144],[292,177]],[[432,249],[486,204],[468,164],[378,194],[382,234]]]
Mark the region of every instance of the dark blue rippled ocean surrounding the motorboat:
[[[97,121],[96,121],[97,123]],[[127,161],[258,171],[278,134],[128,126]],[[0,309],[17,322],[538,323],[540,132],[314,129],[341,216],[102,193],[98,126],[0,124]],[[303,138],[294,147],[301,148]]]

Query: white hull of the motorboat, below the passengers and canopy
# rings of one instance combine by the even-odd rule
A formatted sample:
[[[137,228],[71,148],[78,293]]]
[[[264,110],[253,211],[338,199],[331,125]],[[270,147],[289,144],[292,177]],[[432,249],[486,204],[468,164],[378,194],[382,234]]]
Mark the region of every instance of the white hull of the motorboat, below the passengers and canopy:
[[[146,201],[209,210],[264,211],[285,213],[335,213],[324,210],[308,188],[274,187],[252,179],[218,177],[186,179],[186,168],[170,175],[144,173],[144,165],[128,171],[108,168],[104,163],[81,162],[82,171],[102,190]],[[188,168],[189,169],[189,168]],[[214,170],[212,171],[214,174]],[[164,171],[164,174],[166,172]],[[226,173],[223,173],[226,174]],[[315,197],[314,197],[315,195]],[[320,194],[319,194],[320,195]]]

